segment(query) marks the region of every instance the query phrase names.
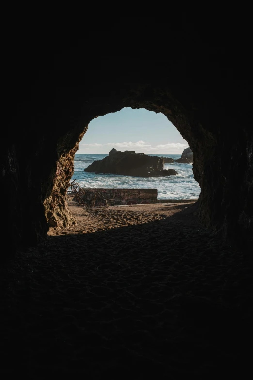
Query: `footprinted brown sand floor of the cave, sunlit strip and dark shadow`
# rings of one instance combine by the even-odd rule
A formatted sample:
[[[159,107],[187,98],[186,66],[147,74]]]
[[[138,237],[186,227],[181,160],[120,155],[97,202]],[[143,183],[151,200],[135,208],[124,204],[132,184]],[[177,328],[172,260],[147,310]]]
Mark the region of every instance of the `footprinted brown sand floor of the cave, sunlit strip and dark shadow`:
[[[69,207],[1,268],[3,379],[247,378],[251,255],[192,203]]]

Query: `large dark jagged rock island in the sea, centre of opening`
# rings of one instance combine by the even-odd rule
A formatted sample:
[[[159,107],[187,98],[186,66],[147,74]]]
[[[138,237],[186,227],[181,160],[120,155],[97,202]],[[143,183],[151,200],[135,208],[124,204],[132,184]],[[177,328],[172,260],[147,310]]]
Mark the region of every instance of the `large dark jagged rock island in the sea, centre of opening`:
[[[173,169],[163,168],[162,157],[152,157],[129,150],[121,152],[115,148],[111,149],[109,155],[103,160],[94,161],[84,171],[134,177],[164,177],[177,174]]]

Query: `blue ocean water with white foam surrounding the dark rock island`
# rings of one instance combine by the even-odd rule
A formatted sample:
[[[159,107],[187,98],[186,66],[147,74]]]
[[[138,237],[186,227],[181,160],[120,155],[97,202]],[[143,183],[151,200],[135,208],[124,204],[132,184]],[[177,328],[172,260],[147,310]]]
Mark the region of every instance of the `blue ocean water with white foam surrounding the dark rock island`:
[[[132,188],[132,189],[158,189],[158,199],[197,199],[200,187],[193,178],[192,164],[164,164],[164,169],[174,169],[176,176],[169,177],[128,177],[118,174],[95,174],[84,171],[95,160],[102,160],[108,154],[75,154],[74,174],[75,180],[81,187],[86,188]],[[149,154],[149,156],[171,157],[174,160],[181,154]]]

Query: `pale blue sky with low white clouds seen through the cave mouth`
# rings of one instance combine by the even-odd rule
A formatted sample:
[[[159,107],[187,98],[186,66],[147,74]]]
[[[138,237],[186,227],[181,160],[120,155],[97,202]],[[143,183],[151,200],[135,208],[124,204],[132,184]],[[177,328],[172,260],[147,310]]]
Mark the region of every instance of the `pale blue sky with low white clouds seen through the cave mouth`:
[[[108,154],[112,148],[146,154],[181,154],[189,145],[161,113],[123,108],[93,119],[78,154]]]

